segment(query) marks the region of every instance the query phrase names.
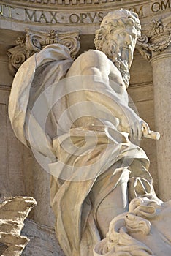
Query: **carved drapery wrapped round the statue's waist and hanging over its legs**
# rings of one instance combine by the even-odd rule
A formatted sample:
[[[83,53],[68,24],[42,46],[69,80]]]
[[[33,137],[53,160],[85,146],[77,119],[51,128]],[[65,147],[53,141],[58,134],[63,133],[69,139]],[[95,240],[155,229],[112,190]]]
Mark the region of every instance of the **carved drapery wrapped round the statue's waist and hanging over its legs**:
[[[140,147],[128,140],[126,143],[126,138],[124,143],[113,143],[113,140],[107,137],[109,133],[96,131],[98,143],[94,151],[90,152],[93,141],[90,139],[87,140],[88,143],[85,142],[86,132],[85,129],[76,128],[68,135],[61,136],[63,138],[53,140],[58,162],[52,163],[50,170],[52,173],[57,172],[55,176],[59,178],[52,179],[51,202],[56,214],[57,237],[68,256],[93,255],[92,249],[100,239],[96,210],[104,197],[123,182],[126,167],[130,166],[132,185],[129,192],[133,197],[151,197],[154,193],[152,178],[147,170],[148,158]],[[89,132],[91,137],[91,131]],[[71,138],[77,146],[74,154],[69,154],[64,149],[64,145],[70,145]],[[81,155],[78,152],[83,143],[86,143],[87,154],[84,148],[84,155]],[[118,161],[121,161],[121,168],[115,170],[115,162]],[[140,162],[140,165],[137,165],[136,161]],[[104,178],[106,176],[107,179]],[[137,185],[138,177],[140,184]],[[89,194],[93,187],[99,186],[99,179],[104,179],[104,184],[99,190],[99,196],[95,198],[93,208]],[[115,202],[113,207],[116,207]]]

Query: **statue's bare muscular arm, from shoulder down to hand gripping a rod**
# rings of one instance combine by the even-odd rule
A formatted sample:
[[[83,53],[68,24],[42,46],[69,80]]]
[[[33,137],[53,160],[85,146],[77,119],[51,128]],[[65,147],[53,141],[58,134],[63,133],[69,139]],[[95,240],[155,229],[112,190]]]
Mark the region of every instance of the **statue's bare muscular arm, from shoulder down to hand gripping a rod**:
[[[82,54],[80,72],[81,75],[88,75],[88,79],[85,81],[92,84],[91,88],[93,91],[93,93],[89,90],[85,91],[86,99],[92,102],[97,100],[100,104],[104,105],[113,116],[121,121],[122,131],[129,132],[131,137],[140,140],[142,138],[142,119],[137,116],[132,108],[129,108],[128,102],[123,102],[111,88],[109,83],[110,70],[111,61],[99,50],[90,50]],[[123,83],[121,73],[114,65],[113,75],[115,83],[121,86],[121,83]],[[99,79],[96,79],[96,77]],[[86,85],[84,88],[86,88]],[[99,92],[96,92],[96,89]]]

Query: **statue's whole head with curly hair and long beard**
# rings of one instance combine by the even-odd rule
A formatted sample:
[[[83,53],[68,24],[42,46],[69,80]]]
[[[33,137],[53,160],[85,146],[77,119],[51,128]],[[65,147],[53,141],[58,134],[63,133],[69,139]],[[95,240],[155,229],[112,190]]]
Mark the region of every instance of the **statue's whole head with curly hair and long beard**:
[[[119,69],[126,87],[129,86],[129,69],[137,37],[140,37],[140,20],[137,14],[116,10],[104,17],[94,40],[96,49],[104,52]]]

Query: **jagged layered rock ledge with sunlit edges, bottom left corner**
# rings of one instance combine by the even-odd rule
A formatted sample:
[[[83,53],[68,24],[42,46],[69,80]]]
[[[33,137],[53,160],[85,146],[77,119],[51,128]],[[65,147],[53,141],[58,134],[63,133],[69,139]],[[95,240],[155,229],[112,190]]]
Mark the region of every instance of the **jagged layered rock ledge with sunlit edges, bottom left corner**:
[[[32,197],[11,197],[0,203],[0,252],[3,256],[20,256],[29,239],[20,236],[23,221],[36,205]]]

